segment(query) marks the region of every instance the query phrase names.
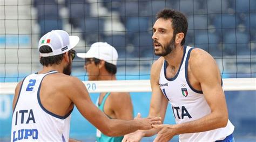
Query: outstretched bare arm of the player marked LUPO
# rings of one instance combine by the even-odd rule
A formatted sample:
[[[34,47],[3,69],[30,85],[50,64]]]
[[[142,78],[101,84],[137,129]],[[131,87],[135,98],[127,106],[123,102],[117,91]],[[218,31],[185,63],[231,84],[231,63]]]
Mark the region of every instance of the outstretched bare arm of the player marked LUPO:
[[[86,87],[78,78],[72,77],[69,81],[72,82],[70,83],[72,86],[66,91],[68,91],[71,101],[84,118],[107,136],[117,137],[136,130],[148,130],[152,128],[152,124],[160,124],[161,122],[159,117],[139,118],[129,121],[109,119],[92,103]]]

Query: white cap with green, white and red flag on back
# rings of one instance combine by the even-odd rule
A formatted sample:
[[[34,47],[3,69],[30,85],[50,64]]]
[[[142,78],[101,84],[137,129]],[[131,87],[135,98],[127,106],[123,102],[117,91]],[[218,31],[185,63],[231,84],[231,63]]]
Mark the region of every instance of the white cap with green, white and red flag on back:
[[[69,33],[63,30],[52,30],[41,37],[38,43],[38,50],[41,46],[48,45],[52,49],[52,52],[40,53],[40,56],[55,56],[71,50],[78,42],[78,36],[69,36]]]

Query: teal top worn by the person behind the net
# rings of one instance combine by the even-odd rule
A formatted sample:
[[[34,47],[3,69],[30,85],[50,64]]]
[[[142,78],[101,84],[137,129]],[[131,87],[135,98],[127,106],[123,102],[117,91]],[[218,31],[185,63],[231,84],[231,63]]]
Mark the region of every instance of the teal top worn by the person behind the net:
[[[97,107],[102,111],[104,112],[104,105],[105,105],[105,102],[106,102],[106,98],[109,97],[110,93],[106,93],[105,96],[103,97],[103,100],[102,100],[102,103],[99,105],[99,102],[97,101]],[[104,112],[105,113],[105,112]],[[108,116],[109,117],[109,116]],[[110,118],[110,117],[109,117]],[[122,137],[109,137],[109,136],[106,136],[105,134],[103,134],[102,132],[100,132],[98,129],[97,129],[97,134],[96,134],[96,138],[98,142],[119,142],[119,141],[122,141],[122,139],[124,138],[123,136]]]

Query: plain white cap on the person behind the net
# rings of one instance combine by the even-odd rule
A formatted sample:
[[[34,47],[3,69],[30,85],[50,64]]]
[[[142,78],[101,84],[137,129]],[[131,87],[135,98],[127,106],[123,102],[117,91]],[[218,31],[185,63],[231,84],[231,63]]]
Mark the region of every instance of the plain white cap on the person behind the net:
[[[93,43],[87,53],[77,53],[79,58],[98,58],[105,60],[107,63],[117,65],[118,53],[117,50],[108,43],[97,42]]]

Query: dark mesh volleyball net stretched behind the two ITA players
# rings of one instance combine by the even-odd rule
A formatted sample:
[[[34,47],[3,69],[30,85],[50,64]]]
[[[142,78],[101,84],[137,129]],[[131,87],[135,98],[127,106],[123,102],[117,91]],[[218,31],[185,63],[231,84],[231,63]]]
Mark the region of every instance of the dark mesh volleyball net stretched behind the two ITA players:
[[[235,90],[241,86],[248,90],[250,85],[250,90],[255,90],[256,8],[252,5],[255,5],[253,0],[1,0],[0,93],[8,92],[4,91],[6,88],[13,89],[10,82],[15,84],[42,69],[38,40],[55,29],[80,37],[77,52],[86,52],[94,42],[113,45],[119,54],[117,78],[132,80],[131,83],[124,81],[127,84],[134,84],[134,80],[143,84],[150,78],[151,65],[158,58],[153,52],[152,26],[156,13],[163,8],[185,13],[188,19],[186,45],[209,52],[217,61],[222,77],[234,78],[231,80],[232,85],[237,85]],[[84,60],[75,58],[72,75],[86,80],[83,65]],[[248,78],[251,78],[250,83],[244,84]]]

